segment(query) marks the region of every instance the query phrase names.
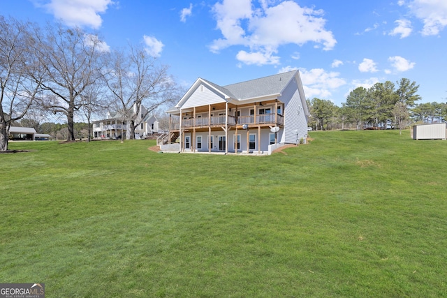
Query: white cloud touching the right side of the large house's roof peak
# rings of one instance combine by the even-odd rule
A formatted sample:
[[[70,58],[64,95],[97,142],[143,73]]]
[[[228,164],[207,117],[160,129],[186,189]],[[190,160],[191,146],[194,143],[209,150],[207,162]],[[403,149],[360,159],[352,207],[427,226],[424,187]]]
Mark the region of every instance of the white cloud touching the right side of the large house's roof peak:
[[[288,70],[283,68],[282,70]],[[300,68],[300,75],[306,98],[330,99],[332,91],[346,84],[346,80],[339,77],[340,73],[326,72],[323,68],[307,70]]]

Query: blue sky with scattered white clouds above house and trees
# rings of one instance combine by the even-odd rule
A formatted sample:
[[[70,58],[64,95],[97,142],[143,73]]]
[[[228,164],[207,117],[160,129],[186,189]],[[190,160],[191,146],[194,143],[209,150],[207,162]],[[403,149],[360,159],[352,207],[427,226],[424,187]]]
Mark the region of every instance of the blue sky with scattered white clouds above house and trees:
[[[185,88],[298,68],[307,98],[407,77],[447,101],[446,0],[1,0],[0,15],[97,31],[107,49],[143,43]]]

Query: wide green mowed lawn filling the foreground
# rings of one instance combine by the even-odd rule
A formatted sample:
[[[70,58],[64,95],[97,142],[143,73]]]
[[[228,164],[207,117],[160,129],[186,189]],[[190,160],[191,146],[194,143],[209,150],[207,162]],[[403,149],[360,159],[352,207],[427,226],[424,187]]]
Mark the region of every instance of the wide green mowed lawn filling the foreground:
[[[154,141],[0,154],[0,282],[46,297],[441,297],[447,141],[312,132],[272,156]]]

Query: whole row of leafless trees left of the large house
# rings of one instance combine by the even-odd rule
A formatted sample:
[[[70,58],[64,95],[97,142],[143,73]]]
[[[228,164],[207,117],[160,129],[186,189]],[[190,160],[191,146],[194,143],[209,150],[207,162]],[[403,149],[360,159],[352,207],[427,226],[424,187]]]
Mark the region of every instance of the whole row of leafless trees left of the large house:
[[[75,119],[90,125],[111,109],[131,120],[133,137],[140,105],[150,113],[182,95],[168,69],[143,45],[110,49],[99,33],[0,15],[0,151],[10,125],[33,112],[65,117],[75,140]]]

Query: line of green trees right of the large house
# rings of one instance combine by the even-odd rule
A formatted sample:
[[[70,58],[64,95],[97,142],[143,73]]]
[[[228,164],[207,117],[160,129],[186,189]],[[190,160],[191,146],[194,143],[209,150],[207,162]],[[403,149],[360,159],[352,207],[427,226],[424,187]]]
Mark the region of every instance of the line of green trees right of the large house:
[[[447,119],[447,103],[416,103],[419,85],[407,78],[396,84],[378,82],[369,89],[358,87],[339,107],[330,100],[307,100],[312,117],[309,126],[327,129],[405,128],[410,122],[441,122]]]

